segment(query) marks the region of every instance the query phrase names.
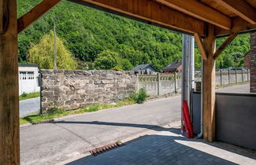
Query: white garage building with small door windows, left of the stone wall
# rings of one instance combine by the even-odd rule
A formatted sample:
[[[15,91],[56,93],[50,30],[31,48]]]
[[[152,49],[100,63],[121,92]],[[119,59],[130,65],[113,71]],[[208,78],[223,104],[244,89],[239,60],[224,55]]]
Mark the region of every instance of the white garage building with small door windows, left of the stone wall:
[[[19,94],[39,92],[38,78],[39,67],[37,64],[19,64]]]

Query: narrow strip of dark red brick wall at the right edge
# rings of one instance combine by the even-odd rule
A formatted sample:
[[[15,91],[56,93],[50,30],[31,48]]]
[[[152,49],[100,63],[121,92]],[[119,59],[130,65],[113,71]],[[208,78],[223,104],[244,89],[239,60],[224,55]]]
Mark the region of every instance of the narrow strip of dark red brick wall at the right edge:
[[[256,93],[256,32],[250,34],[250,92]]]

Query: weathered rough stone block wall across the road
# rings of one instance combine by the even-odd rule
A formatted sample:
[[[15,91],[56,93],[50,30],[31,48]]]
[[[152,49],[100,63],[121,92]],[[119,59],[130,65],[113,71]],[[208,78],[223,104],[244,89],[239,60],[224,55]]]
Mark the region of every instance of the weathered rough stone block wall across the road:
[[[112,103],[135,91],[134,72],[42,70],[41,112]]]

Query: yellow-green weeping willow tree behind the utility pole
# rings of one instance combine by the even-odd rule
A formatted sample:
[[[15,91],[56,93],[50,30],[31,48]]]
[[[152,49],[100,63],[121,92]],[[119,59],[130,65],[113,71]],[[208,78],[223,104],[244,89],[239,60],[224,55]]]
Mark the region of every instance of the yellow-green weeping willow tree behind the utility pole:
[[[58,69],[76,69],[77,62],[72,53],[65,48],[61,38],[57,37],[57,67]],[[54,33],[43,35],[39,44],[32,45],[28,50],[28,60],[38,64],[40,68],[54,68]]]

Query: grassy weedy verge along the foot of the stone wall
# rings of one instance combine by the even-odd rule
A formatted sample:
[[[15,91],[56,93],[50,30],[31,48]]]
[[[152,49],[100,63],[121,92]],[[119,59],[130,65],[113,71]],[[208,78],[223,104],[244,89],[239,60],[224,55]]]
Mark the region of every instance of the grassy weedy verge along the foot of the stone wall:
[[[124,99],[123,101],[117,101],[115,104],[107,104],[107,105],[91,105],[90,107],[79,108],[76,110],[64,111],[62,109],[53,108],[50,112],[46,114],[32,115],[20,118],[20,125],[26,123],[42,123],[44,121],[48,121],[50,119],[62,117],[62,116],[70,116],[85,112],[95,112],[102,109],[113,108],[113,107],[121,107],[124,105],[133,105],[135,101],[131,98]]]

